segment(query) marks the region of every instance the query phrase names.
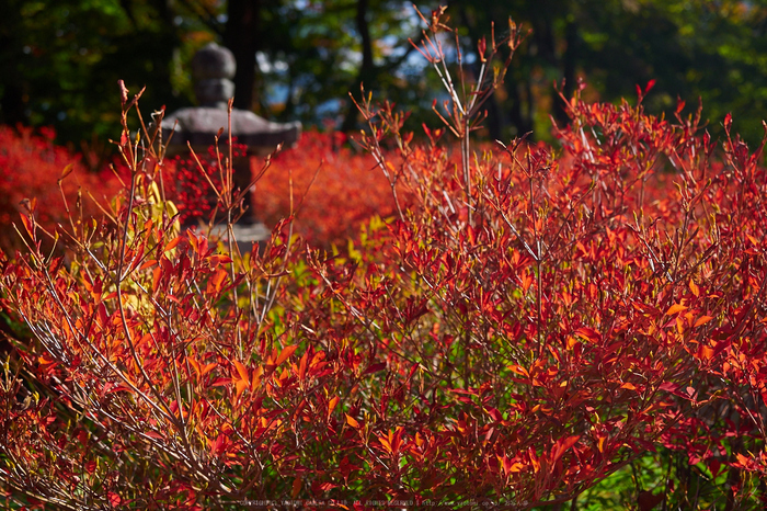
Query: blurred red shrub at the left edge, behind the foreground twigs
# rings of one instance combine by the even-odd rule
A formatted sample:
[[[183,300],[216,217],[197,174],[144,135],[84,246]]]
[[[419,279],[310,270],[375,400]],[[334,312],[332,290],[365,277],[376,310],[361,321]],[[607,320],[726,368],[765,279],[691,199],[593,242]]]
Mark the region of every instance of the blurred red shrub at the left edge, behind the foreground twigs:
[[[90,198],[98,201],[113,196],[119,184],[108,171],[94,174],[88,171],[80,158],[62,147],[54,145],[56,134],[51,128],[41,128],[36,135],[32,128],[0,126],[0,250],[19,247],[19,237],[11,227],[18,224],[19,212],[25,198],[37,200],[37,216],[41,226],[54,231],[56,224],[67,220],[64,196],[69,207],[79,208],[92,216],[96,213]],[[71,175],[58,182],[65,173]],[[81,196],[79,201],[78,197]]]

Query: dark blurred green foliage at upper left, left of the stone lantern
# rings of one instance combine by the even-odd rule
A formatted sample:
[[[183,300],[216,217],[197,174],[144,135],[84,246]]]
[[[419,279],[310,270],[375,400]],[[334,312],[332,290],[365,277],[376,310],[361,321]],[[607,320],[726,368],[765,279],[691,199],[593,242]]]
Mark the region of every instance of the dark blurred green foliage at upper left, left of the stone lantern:
[[[188,101],[188,90],[172,87],[182,34],[164,1],[10,0],[0,33],[3,123],[54,125],[65,141],[95,134],[103,143],[118,124],[119,79],[147,86],[158,109]]]

